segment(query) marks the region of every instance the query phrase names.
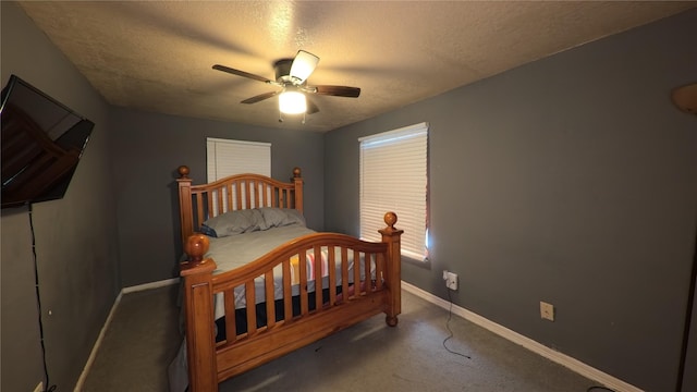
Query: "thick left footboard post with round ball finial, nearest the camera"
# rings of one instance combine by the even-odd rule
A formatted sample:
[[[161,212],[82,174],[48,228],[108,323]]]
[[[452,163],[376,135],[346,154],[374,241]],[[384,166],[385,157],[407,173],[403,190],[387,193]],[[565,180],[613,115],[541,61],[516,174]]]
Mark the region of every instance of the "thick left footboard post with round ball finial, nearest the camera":
[[[203,259],[208,245],[208,237],[203,234],[189,236],[184,244],[189,260],[180,266],[180,274],[184,280],[186,362],[191,392],[218,391],[211,282],[216,264],[212,259]]]

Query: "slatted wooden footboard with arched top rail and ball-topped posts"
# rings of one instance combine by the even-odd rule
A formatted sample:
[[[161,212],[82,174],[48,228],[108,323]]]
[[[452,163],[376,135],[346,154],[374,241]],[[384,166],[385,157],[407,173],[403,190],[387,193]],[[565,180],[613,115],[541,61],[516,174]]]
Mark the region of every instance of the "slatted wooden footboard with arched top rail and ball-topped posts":
[[[189,236],[185,244],[189,261],[181,266],[189,391],[217,391],[222,380],[380,313],[387,315],[389,326],[396,326],[401,313],[400,237],[403,231],[394,228],[396,216],[393,212],[386,213],[384,222],[387,226],[380,230],[380,243],[337,233],[309,234],[248,265],[219,274],[212,273],[215,261],[204,259],[208,238],[200,234]],[[308,279],[304,262],[298,265],[299,282],[295,285],[298,293],[293,293],[291,260],[294,257],[304,260],[306,255],[314,255],[309,258],[314,262],[314,271],[322,271],[322,250],[327,255],[323,280],[327,281],[328,295],[310,295],[308,287],[314,286],[314,282],[311,277]],[[353,268],[350,267],[351,260],[354,260]],[[277,315],[280,309],[276,307],[282,306],[283,317],[268,317],[266,326],[258,328],[257,308],[248,305],[256,304],[259,295],[255,291],[255,280],[258,282],[262,278],[265,298],[273,298],[273,270],[277,266],[282,270],[283,295],[280,301],[265,301],[264,311],[267,316]],[[239,286],[245,287],[247,304],[247,330],[244,333],[235,330],[234,289]],[[227,338],[220,342],[216,342],[213,327],[213,297],[217,294],[224,297],[225,308]],[[293,310],[294,295],[299,297],[299,311]]]

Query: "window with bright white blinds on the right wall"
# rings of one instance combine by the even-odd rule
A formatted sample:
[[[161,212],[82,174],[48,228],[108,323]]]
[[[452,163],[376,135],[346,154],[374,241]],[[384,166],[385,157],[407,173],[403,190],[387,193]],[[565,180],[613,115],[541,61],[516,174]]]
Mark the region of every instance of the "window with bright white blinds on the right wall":
[[[360,237],[380,241],[387,211],[404,230],[402,255],[428,257],[428,123],[362,137]]]

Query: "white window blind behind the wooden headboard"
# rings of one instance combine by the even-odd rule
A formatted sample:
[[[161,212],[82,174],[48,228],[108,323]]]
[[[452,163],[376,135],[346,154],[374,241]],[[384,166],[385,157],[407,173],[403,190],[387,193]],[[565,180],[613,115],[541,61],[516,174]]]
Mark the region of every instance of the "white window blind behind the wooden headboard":
[[[208,137],[206,138],[208,182],[220,180],[228,175],[255,173],[271,176],[271,144],[261,142],[243,142]],[[223,198],[227,194],[223,191]],[[246,197],[243,192],[243,199]],[[254,188],[252,193],[256,192]],[[269,191],[270,192],[270,191]],[[213,193],[215,195],[215,193]],[[236,191],[232,189],[232,197],[236,198]],[[254,195],[250,196],[254,199]],[[246,206],[254,208],[257,206]],[[223,205],[223,212],[228,210]],[[213,206],[213,215],[218,215]]]

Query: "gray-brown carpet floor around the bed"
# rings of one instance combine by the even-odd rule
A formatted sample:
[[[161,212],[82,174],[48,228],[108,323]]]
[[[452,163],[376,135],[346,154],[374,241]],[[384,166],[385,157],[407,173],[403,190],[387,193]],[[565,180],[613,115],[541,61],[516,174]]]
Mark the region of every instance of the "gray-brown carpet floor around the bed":
[[[168,391],[167,367],[181,343],[176,290],[173,285],[123,295],[83,391]],[[403,292],[396,328],[376,316],[227,380],[219,389],[585,392],[596,384]]]

